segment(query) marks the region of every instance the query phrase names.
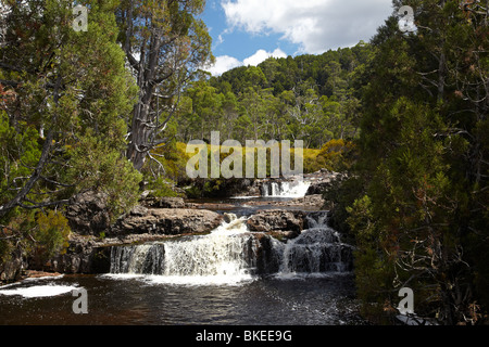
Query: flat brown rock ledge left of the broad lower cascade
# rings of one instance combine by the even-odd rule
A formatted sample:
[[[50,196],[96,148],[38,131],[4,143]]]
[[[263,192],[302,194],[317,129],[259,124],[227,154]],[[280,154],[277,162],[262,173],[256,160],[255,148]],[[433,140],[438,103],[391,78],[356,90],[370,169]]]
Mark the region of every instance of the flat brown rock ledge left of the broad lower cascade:
[[[208,233],[223,219],[222,215],[204,209],[137,206],[105,230],[105,237],[72,233],[65,254],[43,264],[30,262],[29,268],[60,273],[106,273],[110,271],[112,246]]]

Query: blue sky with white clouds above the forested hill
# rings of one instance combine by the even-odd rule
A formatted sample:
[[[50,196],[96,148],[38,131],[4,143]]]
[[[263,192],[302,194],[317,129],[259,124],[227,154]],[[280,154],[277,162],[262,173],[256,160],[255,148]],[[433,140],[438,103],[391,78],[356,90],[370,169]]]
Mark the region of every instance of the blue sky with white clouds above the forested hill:
[[[391,0],[206,0],[213,75],[268,56],[321,54],[368,41],[392,13]]]

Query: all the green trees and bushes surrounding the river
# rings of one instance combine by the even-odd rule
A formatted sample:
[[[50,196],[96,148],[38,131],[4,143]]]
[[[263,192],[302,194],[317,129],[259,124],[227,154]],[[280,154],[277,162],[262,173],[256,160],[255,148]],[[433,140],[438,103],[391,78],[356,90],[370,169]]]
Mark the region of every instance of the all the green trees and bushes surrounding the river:
[[[80,2],[88,33],[60,1],[1,1],[0,262],[62,253],[79,192],[106,193],[114,218],[142,180],[175,194],[185,144],[211,131],[303,140],[305,171],[350,174],[325,195],[356,246],[365,317],[391,322],[411,287],[422,317],[488,320],[487,1],[403,1],[413,33],[393,15],[371,42],[218,77],[199,69],[213,59],[203,1]]]

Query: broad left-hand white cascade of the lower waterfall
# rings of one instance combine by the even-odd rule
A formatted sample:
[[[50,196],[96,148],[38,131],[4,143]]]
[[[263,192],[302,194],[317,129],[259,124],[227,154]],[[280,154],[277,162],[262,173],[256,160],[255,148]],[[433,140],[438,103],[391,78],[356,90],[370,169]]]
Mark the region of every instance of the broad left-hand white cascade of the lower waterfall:
[[[252,279],[255,254],[246,218],[236,218],[203,236],[113,247],[111,273],[152,274],[171,283],[240,282]]]

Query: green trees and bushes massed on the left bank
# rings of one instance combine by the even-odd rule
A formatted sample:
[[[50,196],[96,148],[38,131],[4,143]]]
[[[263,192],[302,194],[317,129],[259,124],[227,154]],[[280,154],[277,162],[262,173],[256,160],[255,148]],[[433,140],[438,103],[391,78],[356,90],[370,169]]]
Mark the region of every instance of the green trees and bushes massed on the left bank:
[[[0,2],[0,265],[62,253],[78,193],[108,196],[112,219],[131,208],[183,86],[212,61],[202,1],[77,3],[87,31],[70,1]]]

